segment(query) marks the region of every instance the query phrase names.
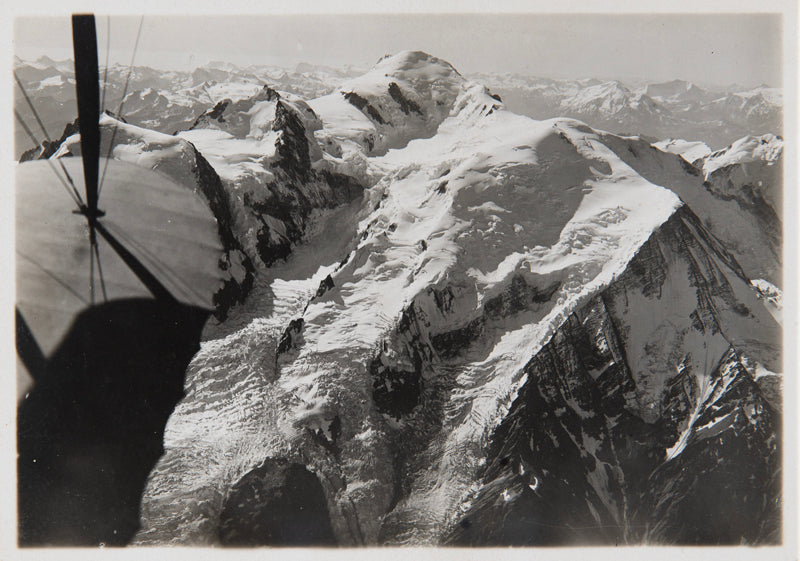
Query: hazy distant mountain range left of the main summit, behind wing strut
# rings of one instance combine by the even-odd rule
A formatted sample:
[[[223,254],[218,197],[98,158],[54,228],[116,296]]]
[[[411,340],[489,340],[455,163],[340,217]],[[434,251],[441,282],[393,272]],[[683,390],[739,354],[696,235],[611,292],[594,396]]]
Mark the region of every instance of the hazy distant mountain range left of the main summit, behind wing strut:
[[[67,123],[77,116],[75,81],[72,61],[54,61],[41,57],[35,61],[14,60],[14,72],[24,85],[42,118],[51,138],[57,138]],[[162,71],[146,66],[115,64],[100,70],[107,80],[105,108],[116,113],[120,107],[125,83],[128,82],[122,114],[125,121],[172,134],[191,126],[209,105],[226,98],[243,99],[269,84],[284,92],[305,98],[318,97],[359,73],[353,68],[333,69],[326,66],[299,64],[293,70],[275,66],[238,67],[229,63],[211,62],[192,71]],[[34,123],[24,98],[16,91],[14,107]],[[38,128],[31,127],[42,135]],[[21,127],[15,129],[15,153],[31,148],[33,143]],[[37,137],[37,140],[41,138]]]

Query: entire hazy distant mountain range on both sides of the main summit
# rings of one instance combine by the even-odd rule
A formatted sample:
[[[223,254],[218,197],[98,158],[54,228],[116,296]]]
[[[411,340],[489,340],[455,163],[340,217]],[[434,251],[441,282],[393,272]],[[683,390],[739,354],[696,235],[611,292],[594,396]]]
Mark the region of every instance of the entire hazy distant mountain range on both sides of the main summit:
[[[58,136],[76,115],[72,62],[15,58],[14,67],[48,133]],[[122,117],[172,134],[188,128],[210,105],[226,98],[244,99],[264,85],[312,99],[362,73],[350,66],[336,69],[308,63],[285,69],[211,62],[192,71],[137,66],[130,73]],[[617,134],[701,141],[716,150],[749,134],[782,131],[782,92],[765,85],[708,90],[684,80],[630,86],[616,80],[552,80],[521,74],[468,77],[491,88],[516,113],[534,119],[572,117]],[[120,107],[126,80],[127,67],[109,67],[106,109],[116,112]],[[23,116],[30,115],[19,95],[15,107]],[[33,145],[19,126],[15,141],[17,156]]]

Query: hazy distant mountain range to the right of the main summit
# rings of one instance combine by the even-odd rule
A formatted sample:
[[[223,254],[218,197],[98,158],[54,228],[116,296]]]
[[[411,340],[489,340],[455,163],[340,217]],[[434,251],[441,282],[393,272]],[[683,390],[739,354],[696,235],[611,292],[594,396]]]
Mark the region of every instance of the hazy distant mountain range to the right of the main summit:
[[[506,106],[534,119],[573,117],[617,134],[680,138],[719,149],[748,134],[780,134],[783,95],[766,85],[707,90],[684,80],[639,86],[620,81],[551,80],[475,74]]]

